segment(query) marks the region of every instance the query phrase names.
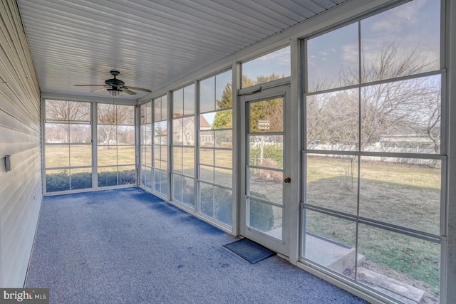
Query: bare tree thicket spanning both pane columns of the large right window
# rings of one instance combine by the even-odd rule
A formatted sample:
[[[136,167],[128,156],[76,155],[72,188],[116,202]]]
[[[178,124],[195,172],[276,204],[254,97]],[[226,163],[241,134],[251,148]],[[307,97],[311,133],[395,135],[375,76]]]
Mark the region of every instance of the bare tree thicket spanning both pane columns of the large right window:
[[[358,142],[361,127],[361,150],[388,135],[426,134],[438,153],[440,81],[435,76],[394,80],[427,71],[432,62],[420,58],[416,49],[399,54],[395,43],[383,47],[378,58],[367,60],[364,53],[362,56],[361,83],[377,84],[310,95],[306,103],[308,140],[353,145]],[[341,73],[340,86],[353,85],[353,78],[359,78],[358,70]]]

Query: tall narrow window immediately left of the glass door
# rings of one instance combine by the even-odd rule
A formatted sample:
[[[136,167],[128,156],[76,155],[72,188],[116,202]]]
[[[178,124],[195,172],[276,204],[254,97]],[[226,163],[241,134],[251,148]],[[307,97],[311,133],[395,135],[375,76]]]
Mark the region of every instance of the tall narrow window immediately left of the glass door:
[[[199,213],[232,226],[232,72],[199,82]]]

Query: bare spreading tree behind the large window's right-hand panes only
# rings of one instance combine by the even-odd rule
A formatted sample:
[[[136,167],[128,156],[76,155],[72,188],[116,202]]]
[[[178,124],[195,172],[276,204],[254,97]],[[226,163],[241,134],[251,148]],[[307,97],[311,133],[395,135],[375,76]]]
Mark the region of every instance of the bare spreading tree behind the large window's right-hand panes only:
[[[398,43],[383,46],[378,58],[366,60],[363,52],[361,83],[422,73],[433,64],[420,58],[415,48],[398,53]],[[343,78],[342,78],[343,79]],[[440,84],[431,78],[411,78],[361,89],[361,145],[373,144],[388,132],[427,134],[440,150]],[[438,140],[437,140],[438,138]]]

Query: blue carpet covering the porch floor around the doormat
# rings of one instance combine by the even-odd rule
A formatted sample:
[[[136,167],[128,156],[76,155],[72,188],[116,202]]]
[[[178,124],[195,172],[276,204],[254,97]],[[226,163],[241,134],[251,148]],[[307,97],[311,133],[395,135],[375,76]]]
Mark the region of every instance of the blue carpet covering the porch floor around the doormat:
[[[26,287],[51,303],[365,303],[141,189],[46,197]]]

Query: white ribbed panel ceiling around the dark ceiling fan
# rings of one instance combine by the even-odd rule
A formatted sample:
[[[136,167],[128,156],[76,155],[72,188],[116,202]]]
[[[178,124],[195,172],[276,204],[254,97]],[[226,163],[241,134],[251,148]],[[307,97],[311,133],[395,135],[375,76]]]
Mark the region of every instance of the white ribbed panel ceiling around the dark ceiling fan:
[[[42,93],[155,90],[346,0],[17,0]],[[123,94],[138,99],[147,93]]]

